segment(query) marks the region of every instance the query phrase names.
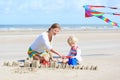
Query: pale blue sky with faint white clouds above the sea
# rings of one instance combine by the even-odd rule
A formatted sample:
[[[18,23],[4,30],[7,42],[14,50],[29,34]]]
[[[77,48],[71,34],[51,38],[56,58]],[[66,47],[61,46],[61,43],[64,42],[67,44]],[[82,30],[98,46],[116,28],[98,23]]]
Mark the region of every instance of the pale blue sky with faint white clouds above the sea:
[[[6,24],[107,24],[96,17],[85,18],[84,5],[120,8],[120,0],[0,0],[0,25]],[[99,9],[117,12],[120,9]],[[120,16],[105,15],[120,23]]]

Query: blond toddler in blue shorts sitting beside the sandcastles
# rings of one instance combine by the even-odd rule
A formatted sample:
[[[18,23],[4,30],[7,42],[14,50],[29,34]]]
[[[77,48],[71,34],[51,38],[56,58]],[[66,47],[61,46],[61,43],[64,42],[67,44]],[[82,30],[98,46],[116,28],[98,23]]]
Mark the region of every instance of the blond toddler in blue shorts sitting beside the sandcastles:
[[[69,65],[78,65],[82,61],[81,58],[81,49],[78,46],[78,39],[75,36],[69,36],[67,39],[68,44],[70,45],[71,49],[66,56],[67,60],[63,62],[68,62]]]

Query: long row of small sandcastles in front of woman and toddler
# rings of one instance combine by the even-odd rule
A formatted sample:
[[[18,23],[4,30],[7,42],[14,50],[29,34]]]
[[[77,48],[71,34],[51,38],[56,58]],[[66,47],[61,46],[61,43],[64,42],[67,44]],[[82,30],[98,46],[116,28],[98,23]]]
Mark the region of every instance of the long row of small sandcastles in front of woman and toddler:
[[[15,73],[35,72],[40,68],[54,68],[54,69],[72,69],[72,70],[97,70],[98,67],[94,65],[68,65],[62,62],[50,61],[50,64],[40,64],[38,60],[27,58],[26,60],[18,60],[13,62],[4,62],[3,66],[15,67]]]

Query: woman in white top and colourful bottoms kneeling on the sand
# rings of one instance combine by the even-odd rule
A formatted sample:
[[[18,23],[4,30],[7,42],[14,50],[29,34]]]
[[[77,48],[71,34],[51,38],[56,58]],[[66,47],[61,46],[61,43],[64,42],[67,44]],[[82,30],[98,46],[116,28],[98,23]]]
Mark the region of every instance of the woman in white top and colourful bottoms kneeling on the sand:
[[[58,23],[54,23],[53,25],[51,25],[48,31],[40,34],[29,47],[29,57],[33,58],[33,60],[39,60],[40,63],[43,63],[43,61],[49,61],[50,57],[52,58],[51,52],[61,57],[60,53],[53,49],[51,45],[53,36],[58,34],[60,30],[60,25]],[[48,54],[50,56],[48,56]]]

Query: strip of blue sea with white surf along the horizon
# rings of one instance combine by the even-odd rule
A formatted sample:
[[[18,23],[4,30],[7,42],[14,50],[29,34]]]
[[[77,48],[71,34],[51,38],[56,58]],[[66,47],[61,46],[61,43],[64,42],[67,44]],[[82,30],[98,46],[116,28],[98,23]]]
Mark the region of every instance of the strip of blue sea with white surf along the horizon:
[[[17,31],[17,30],[46,30],[51,24],[14,24],[0,25],[0,31]],[[104,24],[60,24],[62,30],[120,30],[120,27]]]

